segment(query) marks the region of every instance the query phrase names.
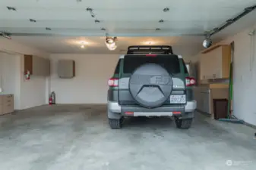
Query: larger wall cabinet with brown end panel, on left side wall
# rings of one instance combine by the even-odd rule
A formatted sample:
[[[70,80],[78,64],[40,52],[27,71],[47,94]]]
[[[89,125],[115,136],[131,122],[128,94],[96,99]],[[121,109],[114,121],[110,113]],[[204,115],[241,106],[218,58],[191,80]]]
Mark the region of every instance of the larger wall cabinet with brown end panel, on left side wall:
[[[43,57],[24,55],[24,71],[27,70],[34,76],[49,76],[50,61]]]

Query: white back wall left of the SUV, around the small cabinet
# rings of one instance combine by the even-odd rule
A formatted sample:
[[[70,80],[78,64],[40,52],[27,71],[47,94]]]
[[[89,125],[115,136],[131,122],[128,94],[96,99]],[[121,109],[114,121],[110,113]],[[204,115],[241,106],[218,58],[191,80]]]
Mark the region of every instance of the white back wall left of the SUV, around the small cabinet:
[[[52,54],[51,91],[56,93],[58,104],[106,104],[107,81],[112,76],[119,55],[115,54]],[[73,79],[59,79],[58,60],[75,61],[76,76]]]

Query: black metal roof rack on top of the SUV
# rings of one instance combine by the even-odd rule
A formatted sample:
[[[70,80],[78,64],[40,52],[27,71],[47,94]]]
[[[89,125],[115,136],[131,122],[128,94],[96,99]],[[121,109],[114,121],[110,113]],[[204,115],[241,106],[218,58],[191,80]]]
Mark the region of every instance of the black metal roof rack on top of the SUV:
[[[134,45],[129,46],[127,54],[173,54],[169,45]]]

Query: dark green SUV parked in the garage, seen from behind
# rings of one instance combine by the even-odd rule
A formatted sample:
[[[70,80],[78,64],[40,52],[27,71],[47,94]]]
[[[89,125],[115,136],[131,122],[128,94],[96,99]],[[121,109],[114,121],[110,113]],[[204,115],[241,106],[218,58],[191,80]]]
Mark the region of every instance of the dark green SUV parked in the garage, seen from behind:
[[[190,128],[196,108],[195,80],[181,56],[162,52],[153,54],[150,46],[150,54],[128,52],[119,58],[109,79],[111,128],[121,128],[126,116],[174,116],[178,128]]]

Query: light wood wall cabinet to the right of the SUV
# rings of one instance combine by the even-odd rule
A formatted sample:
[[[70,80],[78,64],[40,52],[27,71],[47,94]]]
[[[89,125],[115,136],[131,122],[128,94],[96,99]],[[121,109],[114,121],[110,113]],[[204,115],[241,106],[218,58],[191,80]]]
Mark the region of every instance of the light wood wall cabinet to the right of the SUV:
[[[231,61],[231,47],[221,45],[204,51],[200,57],[201,80],[228,79]]]

